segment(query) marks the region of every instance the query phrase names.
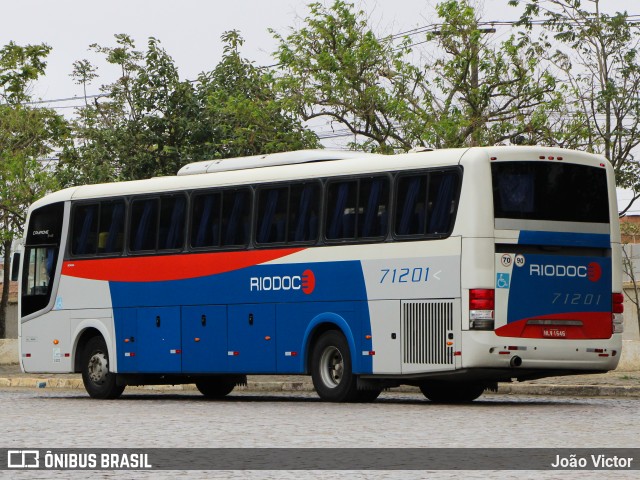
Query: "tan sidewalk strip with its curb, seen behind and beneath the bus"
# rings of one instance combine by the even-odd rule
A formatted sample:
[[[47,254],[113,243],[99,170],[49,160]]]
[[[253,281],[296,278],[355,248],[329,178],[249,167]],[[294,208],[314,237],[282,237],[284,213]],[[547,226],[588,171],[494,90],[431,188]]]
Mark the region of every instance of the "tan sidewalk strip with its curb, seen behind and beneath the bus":
[[[84,389],[80,374],[22,373],[20,366],[0,365],[0,388],[64,388]],[[195,390],[194,385],[153,385],[147,390]],[[252,375],[247,385],[237,391],[248,392],[307,392],[313,391],[311,377],[298,375]],[[416,392],[418,388],[403,386],[393,391]],[[584,397],[638,397],[640,398],[640,371],[611,371],[598,375],[571,375],[548,377],[526,382],[500,383],[498,394],[513,395],[568,395]],[[485,393],[487,394],[487,393]]]

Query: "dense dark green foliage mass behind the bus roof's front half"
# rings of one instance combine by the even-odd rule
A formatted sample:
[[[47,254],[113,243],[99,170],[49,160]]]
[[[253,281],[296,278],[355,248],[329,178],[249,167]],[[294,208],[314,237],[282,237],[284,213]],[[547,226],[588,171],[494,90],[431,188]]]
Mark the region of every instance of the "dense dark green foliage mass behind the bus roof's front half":
[[[175,175],[186,163],[315,147],[316,137],[283,112],[272,78],[241,58],[237,32],[223,35],[224,55],[196,82],[180,80],[173,59],[155,38],[146,52],[127,35],[115,47],[92,45],[120,77],[86,99],[74,124],[76,142],[60,166],[65,184]],[[74,64],[76,83],[96,77],[88,61]]]

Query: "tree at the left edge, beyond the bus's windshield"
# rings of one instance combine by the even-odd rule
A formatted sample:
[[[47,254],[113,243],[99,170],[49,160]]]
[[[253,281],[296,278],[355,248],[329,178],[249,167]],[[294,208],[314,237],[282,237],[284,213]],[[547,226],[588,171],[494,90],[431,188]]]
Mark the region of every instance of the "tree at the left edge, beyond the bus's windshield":
[[[66,122],[49,109],[23,103],[30,83],[44,73],[46,45],[0,49],[0,254],[5,265],[0,296],[0,338],[9,297],[11,245],[22,234],[28,206],[55,188],[55,177],[39,159],[65,141]]]

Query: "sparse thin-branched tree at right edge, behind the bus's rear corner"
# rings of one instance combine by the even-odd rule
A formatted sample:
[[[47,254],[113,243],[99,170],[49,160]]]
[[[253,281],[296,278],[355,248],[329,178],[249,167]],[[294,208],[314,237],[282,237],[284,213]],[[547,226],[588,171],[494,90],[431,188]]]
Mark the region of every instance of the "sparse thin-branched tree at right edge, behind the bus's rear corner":
[[[531,29],[542,17],[555,48],[547,60],[569,84],[565,102],[575,122],[575,147],[601,153],[613,164],[618,186],[640,198],[640,168],[633,151],[640,145],[639,26],[626,12],[601,11],[601,0],[510,0],[524,5],[521,24]],[[582,127],[582,128],[579,128]],[[565,134],[567,129],[560,130]]]

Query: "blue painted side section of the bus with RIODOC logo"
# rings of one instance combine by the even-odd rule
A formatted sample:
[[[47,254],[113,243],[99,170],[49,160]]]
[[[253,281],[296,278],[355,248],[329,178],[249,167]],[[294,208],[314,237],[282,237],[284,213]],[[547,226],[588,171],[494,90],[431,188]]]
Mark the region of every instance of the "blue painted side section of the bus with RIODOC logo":
[[[109,286],[120,373],[304,373],[321,323],[345,334],[354,373],[373,371],[361,355],[372,347],[359,261]]]

